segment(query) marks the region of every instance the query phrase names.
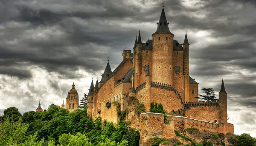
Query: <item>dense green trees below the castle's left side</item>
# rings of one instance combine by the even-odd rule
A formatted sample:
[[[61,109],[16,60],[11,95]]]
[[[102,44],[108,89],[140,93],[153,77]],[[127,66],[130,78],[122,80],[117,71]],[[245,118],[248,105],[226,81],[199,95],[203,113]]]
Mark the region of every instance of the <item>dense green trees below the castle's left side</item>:
[[[0,146],[139,146],[140,134],[130,123],[102,123],[88,118],[86,109],[69,112],[52,104],[23,116],[14,107],[5,111],[14,115],[5,112],[0,122]]]

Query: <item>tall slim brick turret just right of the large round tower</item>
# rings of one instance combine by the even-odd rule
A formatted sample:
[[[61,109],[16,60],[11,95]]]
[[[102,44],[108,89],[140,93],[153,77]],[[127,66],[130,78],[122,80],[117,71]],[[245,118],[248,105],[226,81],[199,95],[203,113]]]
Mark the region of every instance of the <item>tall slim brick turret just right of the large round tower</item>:
[[[187,35],[183,42],[183,76],[184,76],[184,101],[189,102],[189,41]]]

